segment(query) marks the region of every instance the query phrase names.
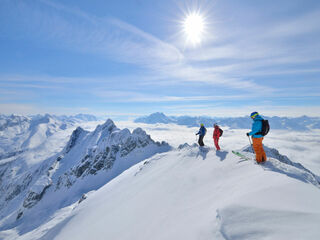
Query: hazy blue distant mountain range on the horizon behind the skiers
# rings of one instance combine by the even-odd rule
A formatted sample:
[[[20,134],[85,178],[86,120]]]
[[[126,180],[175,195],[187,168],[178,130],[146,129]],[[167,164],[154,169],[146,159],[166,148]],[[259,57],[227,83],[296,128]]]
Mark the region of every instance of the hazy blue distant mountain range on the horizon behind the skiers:
[[[296,131],[307,131],[311,129],[320,129],[320,118],[319,117],[267,117],[269,120],[271,129],[283,129],[283,130],[296,130]],[[164,113],[156,112],[149,116],[140,117],[135,120],[137,123],[174,123],[178,125],[185,125],[188,127],[197,127],[203,123],[206,127],[213,126],[217,123],[221,126],[227,126],[232,129],[248,129],[251,128],[252,120],[249,116],[245,117],[191,117],[191,116],[166,116]]]

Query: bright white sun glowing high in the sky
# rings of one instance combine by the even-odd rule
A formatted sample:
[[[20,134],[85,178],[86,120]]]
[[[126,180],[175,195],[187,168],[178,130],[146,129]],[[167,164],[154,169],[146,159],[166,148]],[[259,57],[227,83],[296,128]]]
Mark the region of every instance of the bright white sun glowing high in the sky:
[[[188,42],[194,45],[201,43],[205,31],[204,17],[199,13],[188,14],[183,21],[183,31]]]

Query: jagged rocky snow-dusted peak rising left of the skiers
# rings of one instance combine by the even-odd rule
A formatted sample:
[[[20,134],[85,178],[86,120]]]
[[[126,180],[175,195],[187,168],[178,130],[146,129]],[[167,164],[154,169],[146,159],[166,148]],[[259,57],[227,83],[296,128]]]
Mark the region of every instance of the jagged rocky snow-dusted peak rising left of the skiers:
[[[76,129],[67,146],[66,150],[72,151],[65,151],[61,159],[61,163],[64,163],[60,166],[60,169],[64,169],[63,174],[58,171],[57,177],[53,175],[53,178],[57,178],[56,190],[72,188],[79,178],[106,174],[105,178],[100,180],[102,182],[97,181],[94,184],[102,186],[143,159],[170,150],[167,143],[153,141],[140,128],[132,133],[128,129],[118,129],[111,119],[97,126],[93,132]]]

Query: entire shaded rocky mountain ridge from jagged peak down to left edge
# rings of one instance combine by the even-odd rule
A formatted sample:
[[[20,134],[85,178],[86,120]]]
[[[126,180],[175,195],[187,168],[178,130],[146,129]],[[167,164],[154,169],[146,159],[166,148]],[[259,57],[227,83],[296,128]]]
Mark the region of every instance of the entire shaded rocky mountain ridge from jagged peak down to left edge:
[[[141,128],[132,133],[120,130],[110,119],[93,132],[78,127],[60,153],[38,165],[28,167],[23,161],[0,165],[0,230],[25,227],[45,207],[44,215],[37,216],[43,221],[134,164],[170,149]]]

